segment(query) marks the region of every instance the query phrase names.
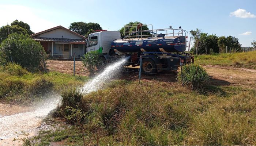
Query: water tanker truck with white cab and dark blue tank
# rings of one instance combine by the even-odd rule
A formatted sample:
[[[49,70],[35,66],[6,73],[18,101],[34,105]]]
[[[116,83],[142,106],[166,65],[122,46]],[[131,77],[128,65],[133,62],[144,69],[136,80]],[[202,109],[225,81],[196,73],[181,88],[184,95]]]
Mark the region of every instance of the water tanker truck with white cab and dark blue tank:
[[[177,70],[178,67],[194,62],[189,50],[188,32],[182,28],[142,30],[143,24],[127,25],[124,30],[133,27],[135,31],[125,31],[121,38],[119,31],[99,31],[89,34],[87,52],[99,50],[100,66],[105,66],[114,57],[129,56],[128,65],[140,65],[142,72],[158,73],[162,70]],[[98,67],[98,66],[97,66]],[[100,67],[99,67],[100,68]]]

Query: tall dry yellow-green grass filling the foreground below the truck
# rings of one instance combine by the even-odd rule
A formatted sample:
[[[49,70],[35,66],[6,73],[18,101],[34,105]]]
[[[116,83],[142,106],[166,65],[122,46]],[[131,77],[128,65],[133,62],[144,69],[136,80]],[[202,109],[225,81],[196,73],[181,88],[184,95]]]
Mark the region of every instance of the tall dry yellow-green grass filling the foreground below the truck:
[[[85,144],[256,145],[255,90],[212,85],[203,90],[159,81],[113,81],[80,101],[93,119],[85,125]],[[79,130],[68,125],[38,138],[45,144],[83,145]]]

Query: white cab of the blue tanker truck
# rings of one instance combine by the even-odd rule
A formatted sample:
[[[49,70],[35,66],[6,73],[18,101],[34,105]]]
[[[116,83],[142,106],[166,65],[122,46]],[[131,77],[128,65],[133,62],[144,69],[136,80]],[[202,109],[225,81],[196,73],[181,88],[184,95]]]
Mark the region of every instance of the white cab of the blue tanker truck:
[[[89,34],[87,40],[87,53],[90,51],[99,50],[101,54],[112,54],[111,42],[115,39],[120,39],[119,31],[100,31]]]

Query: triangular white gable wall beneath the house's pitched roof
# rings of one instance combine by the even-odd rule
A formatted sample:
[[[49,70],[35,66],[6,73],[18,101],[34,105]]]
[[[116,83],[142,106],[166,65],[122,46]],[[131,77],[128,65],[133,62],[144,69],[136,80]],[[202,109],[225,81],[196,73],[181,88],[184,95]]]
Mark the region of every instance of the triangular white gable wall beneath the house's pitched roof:
[[[62,28],[58,28],[56,30],[45,32],[39,35],[39,37],[42,37],[42,38],[62,38],[62,36],[63,38],[68,38],[68,39],[82,39],[77,35],[74,35],[71,32],[68,32],[67,30],[64,30]]]

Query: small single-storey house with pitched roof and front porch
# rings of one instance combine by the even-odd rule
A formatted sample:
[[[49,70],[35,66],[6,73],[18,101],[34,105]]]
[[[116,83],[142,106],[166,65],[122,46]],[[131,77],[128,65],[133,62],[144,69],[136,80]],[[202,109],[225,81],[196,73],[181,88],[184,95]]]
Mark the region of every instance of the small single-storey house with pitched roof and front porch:
[[[55,58],[76,58],[84,55],[86,38],[63,26],[57,26],[30,35],[35,41],[41,43],[47,54]]]

